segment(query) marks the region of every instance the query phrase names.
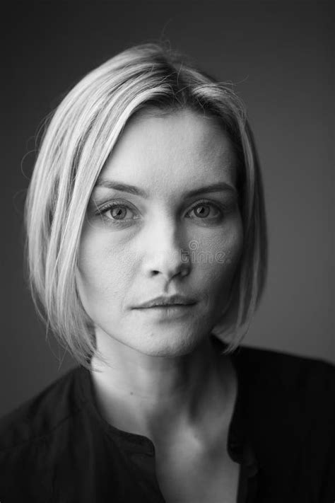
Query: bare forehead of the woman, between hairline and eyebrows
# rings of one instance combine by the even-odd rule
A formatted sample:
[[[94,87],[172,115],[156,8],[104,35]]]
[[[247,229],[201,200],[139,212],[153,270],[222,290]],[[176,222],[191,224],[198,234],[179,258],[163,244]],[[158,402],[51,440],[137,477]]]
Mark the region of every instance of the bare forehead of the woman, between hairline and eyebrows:
[[[153,190],[223,181],[235,185],[236,159],[223,126],[193,110],[141,111],[129,120],[99,179]]]

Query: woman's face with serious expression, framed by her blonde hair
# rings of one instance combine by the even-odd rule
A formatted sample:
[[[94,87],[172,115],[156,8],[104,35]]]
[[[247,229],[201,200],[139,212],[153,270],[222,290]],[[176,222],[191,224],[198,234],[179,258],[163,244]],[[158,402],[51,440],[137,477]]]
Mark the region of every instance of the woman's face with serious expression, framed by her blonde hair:
[[[98,341],[171,357],[208,337],[242,252],[235,163],[211,117],[139,112],[128,122],[90,197],[79,250],[78,291]],[[194,303],[136,307],[173,294]]]

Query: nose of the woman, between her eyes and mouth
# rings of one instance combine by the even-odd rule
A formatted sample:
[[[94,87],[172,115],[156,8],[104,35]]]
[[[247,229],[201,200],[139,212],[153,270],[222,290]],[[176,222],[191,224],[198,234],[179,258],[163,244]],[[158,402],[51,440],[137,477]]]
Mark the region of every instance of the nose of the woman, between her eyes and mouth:
[[[182,231],[172,217],[157,219],[147,229],[143,239],[143,270],[147,277],[162,276],[170,282],[173,277],[189,274],[189,250]]]

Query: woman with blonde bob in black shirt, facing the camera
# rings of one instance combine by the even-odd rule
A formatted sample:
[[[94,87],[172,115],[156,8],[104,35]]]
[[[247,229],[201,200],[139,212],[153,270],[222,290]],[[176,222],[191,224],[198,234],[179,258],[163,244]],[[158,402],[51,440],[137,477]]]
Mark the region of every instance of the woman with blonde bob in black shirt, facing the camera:
[[[78,366],[1,420],[1,502],[334,499],[334,366],[240,345],[266,218],[228,86],[154,44],[102,64],[49,122],[25,224]]]

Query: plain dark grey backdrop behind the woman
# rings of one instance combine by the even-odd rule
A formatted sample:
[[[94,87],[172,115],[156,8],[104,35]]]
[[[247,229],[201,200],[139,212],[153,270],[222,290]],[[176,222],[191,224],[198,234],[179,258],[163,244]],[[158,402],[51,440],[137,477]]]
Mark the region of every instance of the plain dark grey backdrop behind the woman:
[[[16,2],[1,33],[0,414],[74,366],[45,340],[23,280],[37,128],[90,69],[160,37],[233,81],[247,103],[264,176],[269,278],[243,344],[335,362],[331,1]]]

